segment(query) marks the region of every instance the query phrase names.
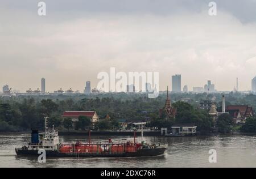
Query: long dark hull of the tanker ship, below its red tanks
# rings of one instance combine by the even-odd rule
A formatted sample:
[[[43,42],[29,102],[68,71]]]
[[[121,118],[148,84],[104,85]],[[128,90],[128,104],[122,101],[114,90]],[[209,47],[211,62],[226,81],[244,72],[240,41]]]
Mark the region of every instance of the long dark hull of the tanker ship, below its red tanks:
[[[18,156],[39,156],[38,150],[16,149]],[[164,154],[166,148],[144,148],[137,152],[101,152],[101,153],[61,153],[59,151],[46,151],[47,157],[141,157],[158,156]]]

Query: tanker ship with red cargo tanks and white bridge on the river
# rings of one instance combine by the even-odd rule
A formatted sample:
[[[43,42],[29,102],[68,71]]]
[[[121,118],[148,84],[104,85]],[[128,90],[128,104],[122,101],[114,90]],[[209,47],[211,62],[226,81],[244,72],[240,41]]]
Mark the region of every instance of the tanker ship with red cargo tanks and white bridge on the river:
[[[139,157],[158,156],[166,151],[167,145],[147,144],[143,141],[143,126],[141,137],[141,142],[137,142],[134,131],[133,142],[127,139],[92,142],[89,131],[88,142],[60,143],[58,132],[54,126],[48,129],[45,118],[44,133],[39,134],[38,130],[32,130],[31,143],[15,148],[15,152],[18,156],[39,156],[44,150],[47,157]]]

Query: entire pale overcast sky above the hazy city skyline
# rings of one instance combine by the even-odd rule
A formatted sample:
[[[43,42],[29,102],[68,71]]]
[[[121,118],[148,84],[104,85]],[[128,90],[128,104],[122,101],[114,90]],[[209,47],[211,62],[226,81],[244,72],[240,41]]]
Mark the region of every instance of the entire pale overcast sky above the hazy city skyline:
[[[0,86],[16,90],[60,87],[82,91],[97,74],[159,71],[160,90],[171,75],[182,86],[251,89],[256,75],[256,0],[210,1],[45,0],[0,1]],[[2,90],[0,90],[2,91]]]

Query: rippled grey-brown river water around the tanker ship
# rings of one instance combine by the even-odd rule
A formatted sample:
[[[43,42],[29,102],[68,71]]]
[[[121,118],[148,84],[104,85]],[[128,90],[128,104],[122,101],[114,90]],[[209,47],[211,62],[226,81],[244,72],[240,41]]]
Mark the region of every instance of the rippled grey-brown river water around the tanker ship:
[[[60,142],[85,141],[86,136],[60,136]],[[93,136],[92,140],[133,137]],[[138,141],[140,138],[138,137]],[[30,134],[0,134],[0,167],[256,167],[256,135],[205,137],[144,137],[148,143],[168,144],[166,154],[129,158],[51,158],[39,163],[36,157],[16,156],[14,148],[26,145]],[[217,162],[209,162],[209,150]]]

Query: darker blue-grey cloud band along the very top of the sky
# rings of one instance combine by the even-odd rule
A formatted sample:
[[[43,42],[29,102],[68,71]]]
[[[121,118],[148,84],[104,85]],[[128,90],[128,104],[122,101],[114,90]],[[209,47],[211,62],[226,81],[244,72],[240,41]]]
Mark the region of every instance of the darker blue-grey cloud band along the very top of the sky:
[[[115,14],[155,14],[171,15],[183,12],[200,13],[208,10],[205,0],[42,0],[47,3],[48,14],[53,18],[81,18],[88,13]],[[38,1],[39,2],[39,1]],[[34,0],[8,0],[0,2],[0,7],[36,11]],[[218,10],[229,12],[243,23],[256,22],[255,0],[214,0]]]

